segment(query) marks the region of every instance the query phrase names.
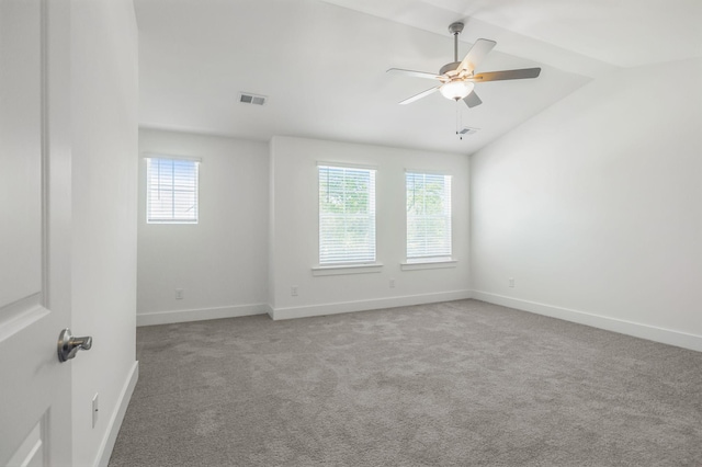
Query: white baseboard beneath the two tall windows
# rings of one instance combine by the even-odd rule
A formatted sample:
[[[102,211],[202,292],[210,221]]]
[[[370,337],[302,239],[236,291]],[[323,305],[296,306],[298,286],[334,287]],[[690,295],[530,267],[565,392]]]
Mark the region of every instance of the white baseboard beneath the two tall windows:
[[[302,307],[286,307],[275,309],[270,308],[269,315],[274,320],[307,318],[313,316],[338,315],[342,312],[366,311],[382,308],[433,304],[439,301],[462,300],[471,297],[471,291],[452,291],[441,292],[437,294],[376,298],[372,300],[341,301],[335,304],[308,305]]]

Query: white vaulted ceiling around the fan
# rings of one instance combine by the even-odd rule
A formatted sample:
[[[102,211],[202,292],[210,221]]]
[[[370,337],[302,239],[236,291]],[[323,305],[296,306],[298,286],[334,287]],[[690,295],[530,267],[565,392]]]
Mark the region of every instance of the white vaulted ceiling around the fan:
[[[247,139],[273,135],[472,153],[620,67],[702,56],[701,0],[135,0],[140,124]],[[542,67],[476,86],[467,109],[432,94],[397,102],[497,41],[478,71]],[[238,103],[240,91],[264,106]],[[460,140],[456,124],[480,128]]]

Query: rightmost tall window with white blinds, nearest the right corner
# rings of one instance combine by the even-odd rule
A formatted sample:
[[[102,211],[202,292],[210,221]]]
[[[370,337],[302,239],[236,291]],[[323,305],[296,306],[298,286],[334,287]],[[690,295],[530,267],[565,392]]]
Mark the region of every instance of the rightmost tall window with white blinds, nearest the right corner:
[[[407,261],[451,259],[451,175],[406,172]]]

